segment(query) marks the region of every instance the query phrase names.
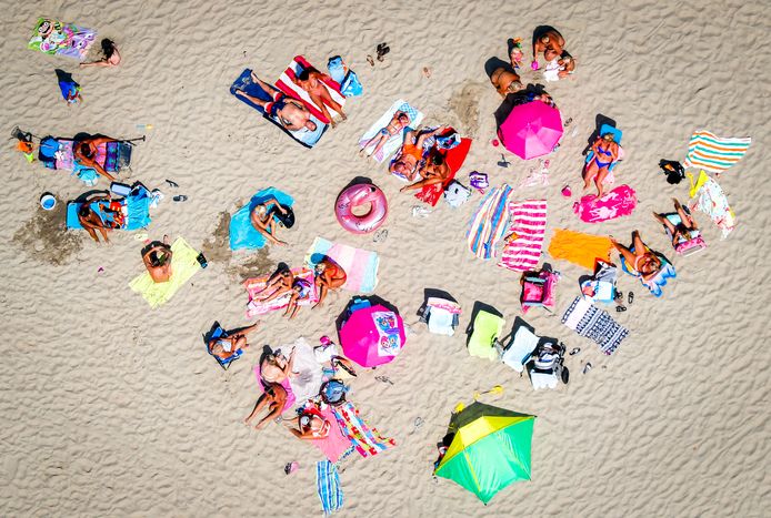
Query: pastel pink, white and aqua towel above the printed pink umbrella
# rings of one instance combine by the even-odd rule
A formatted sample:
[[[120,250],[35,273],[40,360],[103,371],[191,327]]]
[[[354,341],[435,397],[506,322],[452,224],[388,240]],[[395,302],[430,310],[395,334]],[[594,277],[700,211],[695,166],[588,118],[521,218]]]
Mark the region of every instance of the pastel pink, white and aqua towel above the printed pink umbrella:
[[[317,264],[330,257],[346,272],[343,290],[349,292],[372,293],[378,285],[378,265],[380,257],[376,252],[354,248],[353,246],[332,243],[317,237],[306,254],[306,264],[313,270]]]

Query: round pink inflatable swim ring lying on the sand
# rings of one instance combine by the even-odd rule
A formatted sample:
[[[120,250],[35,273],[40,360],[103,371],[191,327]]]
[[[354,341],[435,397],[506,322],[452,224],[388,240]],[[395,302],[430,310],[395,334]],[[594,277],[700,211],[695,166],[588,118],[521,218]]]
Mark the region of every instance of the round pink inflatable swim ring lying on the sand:
[[[368,204],[369,211],[366,214],[357,215],[354,207]],[[334,215],[338,222],[348,232],[354,234],[367,234],[377,231],[386,222],[388,216],[388,202],[386,194],[374,184],[358,183],[343,190],[334,203]]]

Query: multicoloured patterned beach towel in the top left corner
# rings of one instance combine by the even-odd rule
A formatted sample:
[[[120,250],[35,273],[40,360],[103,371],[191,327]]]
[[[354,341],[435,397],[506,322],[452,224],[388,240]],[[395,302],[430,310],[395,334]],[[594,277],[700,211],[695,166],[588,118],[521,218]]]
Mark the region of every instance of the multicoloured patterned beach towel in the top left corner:
[[[82,60],[97,40],[97,31],[63,23],[51,18],[38,18],[28,49],[43,54],[67,55]]]

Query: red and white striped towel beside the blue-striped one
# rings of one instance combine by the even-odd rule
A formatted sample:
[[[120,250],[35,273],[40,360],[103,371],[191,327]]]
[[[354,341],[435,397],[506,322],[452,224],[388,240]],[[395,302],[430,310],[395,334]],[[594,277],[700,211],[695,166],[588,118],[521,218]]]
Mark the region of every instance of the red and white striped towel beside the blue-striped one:
[[[517,238],[503,246],[501,261],[498,265],[514,272],[533,270],[541,257],[543,235],[547,232],[547,201],[525,200],[509,204],[511,226],[505,231],[512,232]]]

